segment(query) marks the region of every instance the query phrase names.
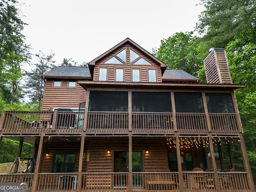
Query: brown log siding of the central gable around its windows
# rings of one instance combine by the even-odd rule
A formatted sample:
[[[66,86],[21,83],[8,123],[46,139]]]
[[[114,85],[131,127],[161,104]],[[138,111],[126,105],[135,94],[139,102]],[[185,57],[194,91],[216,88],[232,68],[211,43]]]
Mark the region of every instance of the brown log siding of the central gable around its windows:
[[[108,59],[110,59],[112,56],[118,54],[122,50],[126,48],[126,64],[104,64]],[[134,52],[138,53],[140,56],[142,56],[144,59],[146,59],[148,62],[150,62],[152,65],[136,65],[130,63],[130,49],[132,49]],[[94,81],[98,81],[98,72],[99,68],[107,68],[107,81],[115,81],[115,72],[117,68],[124,69],[124,81],[125,82],[131,82],[132,81],[132,69],[140,69],[140,81],[141,82],[148,82],[148,69],[156,69],[156,79],[157,82],[162,82],[162,74],[160,70],[160,64],[156,63],[152,58],[141,52],[135,47],[130,46],[129,44],[126,44],[125,46],[122,46],[118,48],[117,50],[114,50],[111,54],[108,56],[102,58],[95,64],[94,68]]]

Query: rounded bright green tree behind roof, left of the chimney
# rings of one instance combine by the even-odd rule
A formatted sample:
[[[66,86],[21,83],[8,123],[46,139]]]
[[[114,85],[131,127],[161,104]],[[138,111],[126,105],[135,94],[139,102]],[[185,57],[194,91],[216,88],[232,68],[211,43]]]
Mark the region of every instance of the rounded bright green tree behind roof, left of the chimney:
[[[203,44],[200,38],[192,36],[193,32],[179,32],[168,39],[161,40],[160,48],[153,49],[153,55],[167,64],[167,69],[182,69],[189,74],[203,66]]]

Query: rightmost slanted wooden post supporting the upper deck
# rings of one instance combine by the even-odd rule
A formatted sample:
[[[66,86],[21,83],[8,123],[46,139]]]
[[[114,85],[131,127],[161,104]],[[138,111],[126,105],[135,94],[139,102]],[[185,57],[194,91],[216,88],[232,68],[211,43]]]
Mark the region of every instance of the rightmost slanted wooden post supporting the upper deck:
[[[248,174],[250,192],[255,192],[255,186],[254,186],[253,177],[252,177],[252,171],[250,169],[250,164],[249,164],[249,160],[248,160],[248,156],[247,156],[247,152],[246,152],[246,147],[245,147],[245,143],[244,143],[244,137],[242,136],[242,134],[240,134],[239,137],[240,137],[240,149],[241,149],[241,153],[242,153],[244,169],[245,169],[245,171]]]

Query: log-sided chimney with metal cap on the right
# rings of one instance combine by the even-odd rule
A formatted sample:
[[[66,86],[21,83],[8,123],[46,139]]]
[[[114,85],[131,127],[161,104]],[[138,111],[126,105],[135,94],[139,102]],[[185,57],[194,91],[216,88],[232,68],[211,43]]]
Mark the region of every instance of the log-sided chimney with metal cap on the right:
[[[224,48],[210,48],[204,59],[207,83],[232,84],[228,60]]]

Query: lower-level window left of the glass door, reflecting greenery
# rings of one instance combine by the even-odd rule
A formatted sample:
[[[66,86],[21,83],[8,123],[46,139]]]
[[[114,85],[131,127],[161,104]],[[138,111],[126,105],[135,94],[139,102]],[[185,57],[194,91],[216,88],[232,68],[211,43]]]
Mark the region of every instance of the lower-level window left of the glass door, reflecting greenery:
[[[66,173],[75,171],[75,154],[55,154],[53,170],[54,173]]]

